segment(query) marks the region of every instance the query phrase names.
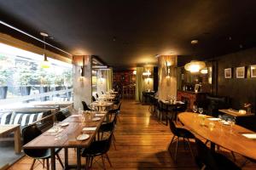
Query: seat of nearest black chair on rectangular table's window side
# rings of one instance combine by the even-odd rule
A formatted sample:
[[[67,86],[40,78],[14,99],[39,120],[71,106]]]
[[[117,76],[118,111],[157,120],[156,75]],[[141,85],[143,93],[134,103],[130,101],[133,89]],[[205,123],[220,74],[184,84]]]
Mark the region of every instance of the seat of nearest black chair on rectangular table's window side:
[[[61,148],[56,148],[55,153],[61,151]],[[42,150],[35,150],[35,149],[25,149],[24,152],[27,156],[31,156],[35,159],[49,159],[50,158],[50,150],[49,149],[42,149]]]

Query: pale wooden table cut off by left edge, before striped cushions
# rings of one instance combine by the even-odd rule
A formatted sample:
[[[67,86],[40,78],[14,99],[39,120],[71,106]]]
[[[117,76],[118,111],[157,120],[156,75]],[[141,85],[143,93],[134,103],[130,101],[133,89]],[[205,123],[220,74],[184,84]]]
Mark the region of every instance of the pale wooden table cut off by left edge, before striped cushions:
[[[20,125],[0,125],[0,137],[4,137],[4,135],[12,132],[15,133],[15,153],[20,154]]]

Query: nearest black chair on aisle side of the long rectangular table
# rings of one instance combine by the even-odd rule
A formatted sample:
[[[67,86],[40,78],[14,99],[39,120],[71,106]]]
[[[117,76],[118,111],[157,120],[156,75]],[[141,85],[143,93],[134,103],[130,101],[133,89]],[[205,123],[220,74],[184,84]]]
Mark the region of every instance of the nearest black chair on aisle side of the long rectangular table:
[[[108,157],[108,150],[110,149],[112,140],[113,132],[110,133],[108,139],[93,141],[88,148],[83,150],[82,156],[86,158],[85,169],[88,169],[92,166],[93,158],[96,156],[102,156],[102,164],[104,169],[106,169],[104,156],[106,156],[110,167],[112,167],[112,164]]]

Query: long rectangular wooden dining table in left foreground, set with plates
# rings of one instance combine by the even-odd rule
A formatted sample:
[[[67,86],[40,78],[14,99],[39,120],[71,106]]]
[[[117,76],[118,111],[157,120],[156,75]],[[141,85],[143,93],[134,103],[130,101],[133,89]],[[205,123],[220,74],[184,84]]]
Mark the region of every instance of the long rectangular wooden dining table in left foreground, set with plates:
[[[101,112],[102,113],[102,112]],[[51,169],[55,170],[55,148],[64,148],[65,150],[65,169],[74,167],[68,165],[68,148],[77,149],[77,169],[81,169],[81,149],[87,148],[90,143],[95,139],[96,133],[101,126],[103,120],[107,116],[107,112],[104,116],[100,116],[101,120],[97,122],[82,122],[78,115],[72,115],[67,117],[63,122],[69,122],[67,127],[63,127],[61,132],[61,139],[55,140],[55,135],[49,133],[48,131],[38,136],[38,138],[33,139],[31,142],[23,146],[24,149],[50,149],[51,153]],[[82,133],[84,127],[96,127],[95,131],[86,131],[90,134],[90,138],[78,141],[76,137]],[[46,142],[47,141],[47,142]]]

